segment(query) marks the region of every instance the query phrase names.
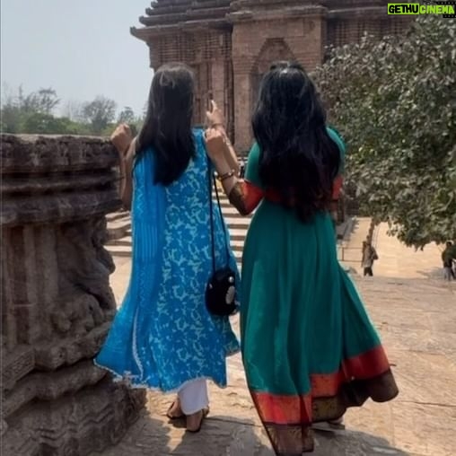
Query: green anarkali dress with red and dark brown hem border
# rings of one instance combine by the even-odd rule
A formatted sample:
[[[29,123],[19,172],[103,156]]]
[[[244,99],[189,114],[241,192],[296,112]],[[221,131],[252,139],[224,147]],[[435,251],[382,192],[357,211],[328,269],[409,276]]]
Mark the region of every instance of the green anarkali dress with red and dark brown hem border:
[[[345,152],[339,137],[329,135]],[[390,364],[355,285],[338,263],[329,213],[304,224],[267,198],[259,146],[247,189],[264,192],[242,259],[241,344],[250,393],[277,455],[313,451],[311,424],[393,399]]]

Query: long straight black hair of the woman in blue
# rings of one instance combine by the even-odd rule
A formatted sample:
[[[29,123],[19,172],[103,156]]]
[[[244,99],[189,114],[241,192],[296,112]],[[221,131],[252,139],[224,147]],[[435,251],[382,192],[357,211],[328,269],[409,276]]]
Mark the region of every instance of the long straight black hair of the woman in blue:
[[[178,180],[195,157],[191,130],[194,75],[189,66],[161,66],[151,84],[145,123],[136,140],[136,155],[153,147],[155,183],[170,185]]]

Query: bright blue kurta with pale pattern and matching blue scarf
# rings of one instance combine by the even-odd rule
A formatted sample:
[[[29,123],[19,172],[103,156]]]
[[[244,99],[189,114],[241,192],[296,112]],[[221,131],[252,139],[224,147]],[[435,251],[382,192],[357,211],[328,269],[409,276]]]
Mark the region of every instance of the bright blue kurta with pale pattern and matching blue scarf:
[[[224,387],[225,358],[239,350],[229,320],[206,311],[212,274],[209,165],[202,130],[195,130],[194,137],[196,158],[168,187],[153,184],[153,150],[138,155],[130,284],[96,358],[133,385],[163,391],[201,378]],[[216,204],[214,222],[216,267],[228,260],[237,271],[231,249],[226,258],[224,222]]]

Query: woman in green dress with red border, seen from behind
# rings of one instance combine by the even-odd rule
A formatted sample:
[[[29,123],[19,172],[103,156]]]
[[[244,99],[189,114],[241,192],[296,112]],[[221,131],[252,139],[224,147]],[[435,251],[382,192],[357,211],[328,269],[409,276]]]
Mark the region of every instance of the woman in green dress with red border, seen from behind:
[[[247,381],[277,455],[312,452],[311,425],[368,398],[398,394],[381,341],[339,266],[329,215],[344,145],[303,68],[265,75],[245,180],[224,159],[224,128],[206,148],[241,214],[258,206],[245,241],[241,344]]]

